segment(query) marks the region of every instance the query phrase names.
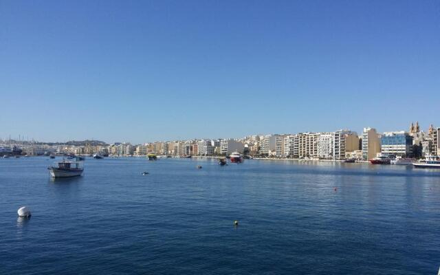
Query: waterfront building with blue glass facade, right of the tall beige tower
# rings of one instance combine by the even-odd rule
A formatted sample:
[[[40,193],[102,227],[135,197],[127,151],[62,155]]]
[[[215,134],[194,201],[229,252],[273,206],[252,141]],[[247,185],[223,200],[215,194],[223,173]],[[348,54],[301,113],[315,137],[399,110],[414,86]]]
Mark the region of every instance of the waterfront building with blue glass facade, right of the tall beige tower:
[[[385,132],[381,137],[381,153],[384,156],[412,157],[412,139],[405,131]]]

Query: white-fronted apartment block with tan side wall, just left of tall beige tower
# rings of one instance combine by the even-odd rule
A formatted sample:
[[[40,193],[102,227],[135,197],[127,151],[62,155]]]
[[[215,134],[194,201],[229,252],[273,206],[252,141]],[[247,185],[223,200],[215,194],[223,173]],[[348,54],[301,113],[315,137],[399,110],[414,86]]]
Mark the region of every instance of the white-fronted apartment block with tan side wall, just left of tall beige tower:
[[[358,133],[340,130],[333,133],[333,159],[346,159],[347,152],[359,150]]]

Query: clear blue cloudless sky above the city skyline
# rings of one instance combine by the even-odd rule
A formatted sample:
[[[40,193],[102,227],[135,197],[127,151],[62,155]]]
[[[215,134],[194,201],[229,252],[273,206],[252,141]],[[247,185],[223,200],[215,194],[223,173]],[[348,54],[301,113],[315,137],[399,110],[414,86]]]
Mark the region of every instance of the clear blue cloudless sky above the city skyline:
[[[0,0],[0,138],[440,126],[440,1]]]

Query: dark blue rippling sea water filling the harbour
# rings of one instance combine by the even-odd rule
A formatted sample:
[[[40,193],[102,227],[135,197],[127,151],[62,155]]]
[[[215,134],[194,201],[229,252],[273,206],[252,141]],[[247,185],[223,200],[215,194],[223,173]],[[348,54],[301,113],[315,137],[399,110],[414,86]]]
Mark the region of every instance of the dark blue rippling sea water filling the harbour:
[[[51,163],[0,159],[0,274],[439,270],[439,170],[87,159],[82,177],[52,180]]]

